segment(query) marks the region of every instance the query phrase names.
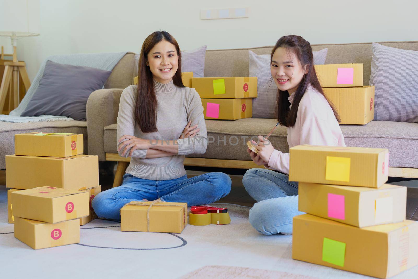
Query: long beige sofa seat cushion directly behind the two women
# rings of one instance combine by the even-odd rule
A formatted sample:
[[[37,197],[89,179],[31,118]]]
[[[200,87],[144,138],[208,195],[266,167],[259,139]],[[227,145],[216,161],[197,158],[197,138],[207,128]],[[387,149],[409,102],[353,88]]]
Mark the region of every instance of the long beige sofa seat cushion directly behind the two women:
[[[267,135],[277,123],[275,119],[245,118],[205,120],[209,144],[205,154],[188,157],[250,160],[246,142],[252,136]],[[389,149],[389,165],[418,168],[418,124],[371,121],[366,125],[340,125],[347,146]],[[116,127],[104,127],[104,151],[117,153]],[[255,139],[255,138],[254,138]],[[270,136],[275,149],[289,152],[287,129],[279,126]]]

